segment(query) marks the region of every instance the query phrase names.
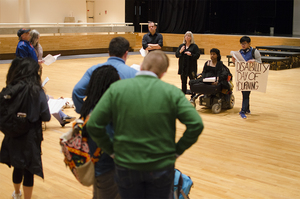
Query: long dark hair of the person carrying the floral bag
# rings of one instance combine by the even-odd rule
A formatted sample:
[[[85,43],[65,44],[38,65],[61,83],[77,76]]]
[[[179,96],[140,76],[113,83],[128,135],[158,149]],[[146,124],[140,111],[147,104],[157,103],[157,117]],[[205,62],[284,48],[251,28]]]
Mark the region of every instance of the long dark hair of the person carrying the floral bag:
[[[109,86],[119,79],[118,71],[111,65],[104,65],[94,70],[85,91],[87,97],[80,111],[81,117],[86,118]]]

